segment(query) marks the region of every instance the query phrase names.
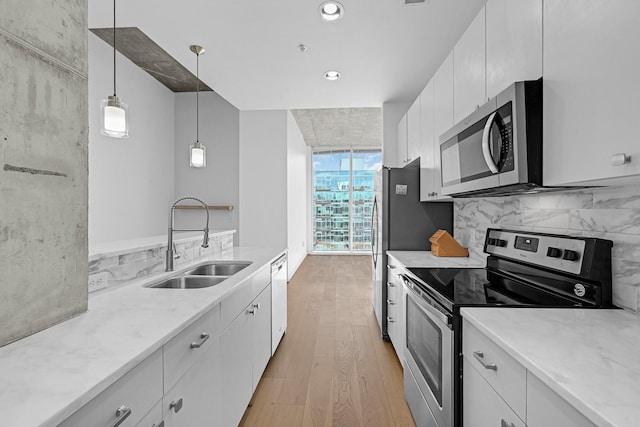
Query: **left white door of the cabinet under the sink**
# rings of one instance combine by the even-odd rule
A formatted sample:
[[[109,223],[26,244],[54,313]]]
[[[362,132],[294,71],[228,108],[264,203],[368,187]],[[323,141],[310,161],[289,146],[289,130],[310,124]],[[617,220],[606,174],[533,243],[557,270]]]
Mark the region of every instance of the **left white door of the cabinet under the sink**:
[[[237,426],[253,392],[252,317],[247,307],[220,337],[223,426]]]

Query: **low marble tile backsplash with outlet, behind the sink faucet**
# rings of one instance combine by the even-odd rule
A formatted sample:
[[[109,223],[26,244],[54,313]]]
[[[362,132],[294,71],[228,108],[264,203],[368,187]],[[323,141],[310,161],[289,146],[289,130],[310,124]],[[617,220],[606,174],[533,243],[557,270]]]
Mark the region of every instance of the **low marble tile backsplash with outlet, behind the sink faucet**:
[[[176,243],[180,258],[174,261],[174,269],[203,257],[224,259],[233,256],[233,233],[210,237],[206,249],[201,244],[201,239]],[[132,249],[131,252],[114,256],[96,255],[89,258],[89,275],[106,272],[109,286],[114,286],[149,274],[162,273],[165,270],[166,251],[165,244],[151,249]]]

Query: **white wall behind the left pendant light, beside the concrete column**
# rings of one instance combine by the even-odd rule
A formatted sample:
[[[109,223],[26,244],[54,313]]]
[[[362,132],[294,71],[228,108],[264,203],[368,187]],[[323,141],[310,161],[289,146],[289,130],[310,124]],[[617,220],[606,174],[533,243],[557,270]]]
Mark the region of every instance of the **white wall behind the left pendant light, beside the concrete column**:
[[[174,197],[174,94],[118,54],[117,94],[130,137],[100,134],[100,100],[113,94],[113,50],[89,32],[89,248],[166,233]]]

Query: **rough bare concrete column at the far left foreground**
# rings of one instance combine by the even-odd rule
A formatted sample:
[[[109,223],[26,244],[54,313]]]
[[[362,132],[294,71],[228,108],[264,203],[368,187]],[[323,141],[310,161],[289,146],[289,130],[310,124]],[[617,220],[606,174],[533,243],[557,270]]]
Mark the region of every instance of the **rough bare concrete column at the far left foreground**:
[[[0,345],[87,309],[87,2],[0,2]]]

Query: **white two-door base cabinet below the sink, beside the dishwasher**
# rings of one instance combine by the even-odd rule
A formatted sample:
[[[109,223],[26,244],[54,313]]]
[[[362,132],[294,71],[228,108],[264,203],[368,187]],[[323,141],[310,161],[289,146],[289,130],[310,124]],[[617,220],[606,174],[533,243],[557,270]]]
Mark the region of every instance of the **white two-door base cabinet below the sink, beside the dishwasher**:
[[[271,357],[271,285],[222,333],[220,344],[222,425],[237,426]]]

